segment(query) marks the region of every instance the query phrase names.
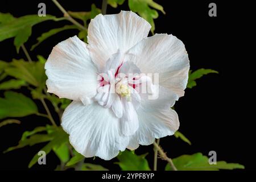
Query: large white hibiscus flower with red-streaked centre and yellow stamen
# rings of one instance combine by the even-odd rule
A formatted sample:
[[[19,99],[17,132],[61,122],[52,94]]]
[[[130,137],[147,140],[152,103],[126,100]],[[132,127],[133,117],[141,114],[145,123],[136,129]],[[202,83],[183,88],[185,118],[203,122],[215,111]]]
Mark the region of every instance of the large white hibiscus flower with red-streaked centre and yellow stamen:
[[[100,14],[89,24],[88,44],[74,36],[49,55],[48,92],[73,100],[61,126],[86,158],[109,160],[125,148],[152,144],[179,128],[177,113],[170,107],[184,95],[188,55],[175,36],[147,37],[150,28],[131,11]],[[138,75],[131,79],[130,73]],[[159,74],[159,86],[148,73]],[[148,93],[139,91],[143,83]],[[156,90],[159,96],[149,99]]]

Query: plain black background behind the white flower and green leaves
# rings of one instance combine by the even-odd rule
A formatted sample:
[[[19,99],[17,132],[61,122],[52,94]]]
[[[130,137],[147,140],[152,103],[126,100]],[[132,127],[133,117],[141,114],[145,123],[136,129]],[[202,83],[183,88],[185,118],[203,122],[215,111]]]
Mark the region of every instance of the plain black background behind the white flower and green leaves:
[[[57,17],[63,15],[51,1],[1,0],[0,12],[11,13],[16,17],[37,14],[39,2],[46,3],[47,14]],[[59,2],[65,9],[71,11],[90,11],[92,2],[101,8],[101,1]],[[249,10],[251,3],[183,0],[156,2],[164,7],[166,15],[159,11],[159,18],[155,20],[155,33],[173,34],[182,40],[187,48],[192,70],[210,68],[219,72],[218,75],[212,74],[198,80],[197,86],[186,89],[185,96],[175,104],[180,118],[179,131],[191,140],[192,146],[175,137],[162,138],[161,146],[171,158],[195,152],[208,155],[209,151],[214,150],[217,152],[217,160],[241,163],[246,169],[255,169],[253,127],[255,119],[249,116],[255,106],[245,104],[247,101],[252,102],[255,85],[254,82],[249,82],[249,78],[253,75],[255,58],[251,57],[253,51],[250,51],[253,42],[247,37],[251,29],[245,26],[246,21],[251,18],[252,11]],[[217,4],[217,17],[208,16],[210,2]],[[120,10],[129,10],[127,1],[117,9],[108,6],[107,14],[119,13]],[[62,27],[64,24],[70,23],[47,21],[34,26],[32,36],[25,46],[29,49],[43,32]],[[53,46],[77,33],[75,30],[67,30],[49,38],[30,52],[32,59],[36,59],[36,55],[47,58]],[[0,60],[10,61],[13,58],[26,59],[21,49],[19,54],[16,53],[13,39],[0,42]],[[0,93],[2,96],[3,92]],[[22,93],[29,96],[26,89],[23,89]],[[36,103],[40,111],[44,112],[40,103]],[[55,118],[58,119],[56,115]],[[49,123],[35,115],[24,117],[21,121],[20,125],[0,128],[1,169],[27,169],[32,156],[44,146],[38,144],[2,154],[6,148],[18,144],[24,131]],[[135,152],[137,154],[149,152],[146,158],[152,168],[154,157],[152,146],[141,146]],[[117,164],[113,164],[116,161],[116,159],[110,161],[99,158],[86,159],[86,162],[102,164],[106,168],[118,170]],[[46,166],[35,165],[32,169],[55,169],[58,163],[56,155],[51,152],[47,155]],[[159,160],[159,169],[163,170],[165,164],[166,162]]]

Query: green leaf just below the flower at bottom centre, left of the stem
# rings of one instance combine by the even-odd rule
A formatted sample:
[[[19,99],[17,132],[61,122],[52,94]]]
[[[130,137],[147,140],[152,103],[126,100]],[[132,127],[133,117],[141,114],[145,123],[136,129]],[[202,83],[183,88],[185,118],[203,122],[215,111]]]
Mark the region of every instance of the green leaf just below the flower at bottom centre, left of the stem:
[[[150,171],[148,162],[145,159],[146,155],[138,156],[131,151],[123,151],[117,156],[119,162],[117,164],[123,171]]]

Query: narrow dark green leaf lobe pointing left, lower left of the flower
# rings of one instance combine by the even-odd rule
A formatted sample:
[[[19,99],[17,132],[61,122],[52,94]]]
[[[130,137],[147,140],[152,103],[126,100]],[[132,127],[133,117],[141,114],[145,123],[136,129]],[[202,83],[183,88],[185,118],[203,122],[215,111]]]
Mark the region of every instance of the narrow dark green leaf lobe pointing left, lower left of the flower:
[[[33,146],[34,144],[48,142],[49,140],[52,140],[52,136],[48,134],[35,134],[32,135],[30,138],[26,138],[19,141],[18,146],[9,147],[4,153],[10,152],[12,150],[23,148],[25,146]]]

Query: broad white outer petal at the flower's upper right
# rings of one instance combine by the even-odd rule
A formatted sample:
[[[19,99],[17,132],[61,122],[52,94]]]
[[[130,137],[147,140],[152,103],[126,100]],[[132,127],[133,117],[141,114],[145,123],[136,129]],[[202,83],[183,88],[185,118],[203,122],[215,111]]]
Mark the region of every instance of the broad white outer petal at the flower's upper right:
[[[142,73],[159,73],[159,85],[179,95],[187,86],[189,60],[185,46],[173,35],[156,34],[128,51]]]

